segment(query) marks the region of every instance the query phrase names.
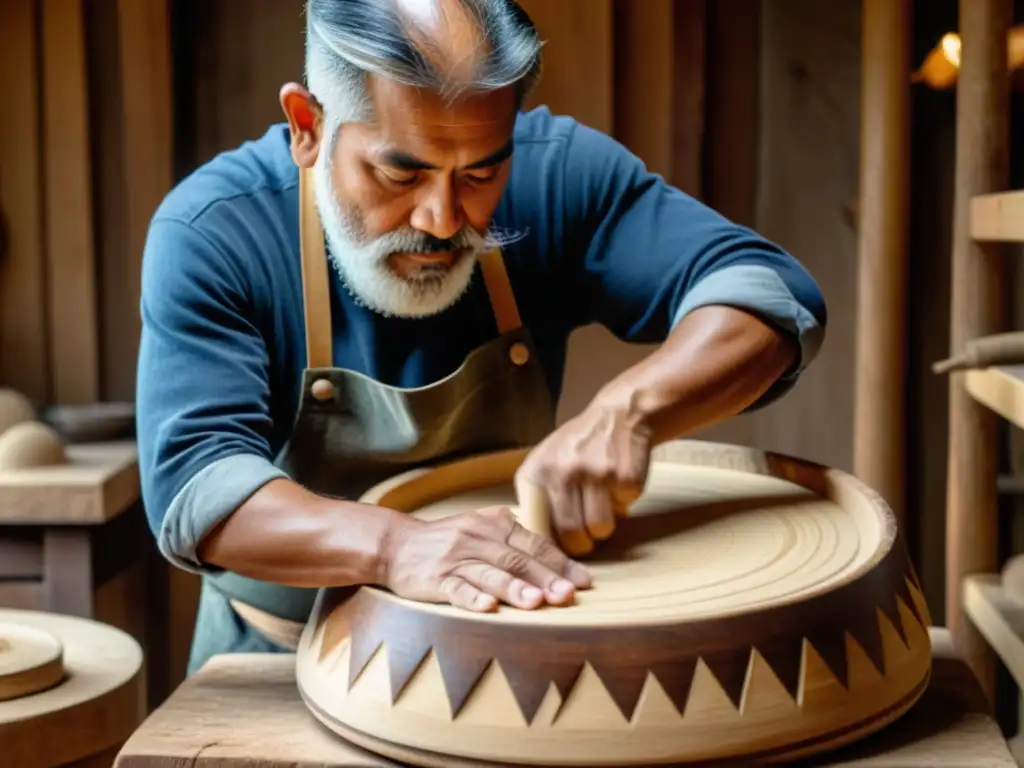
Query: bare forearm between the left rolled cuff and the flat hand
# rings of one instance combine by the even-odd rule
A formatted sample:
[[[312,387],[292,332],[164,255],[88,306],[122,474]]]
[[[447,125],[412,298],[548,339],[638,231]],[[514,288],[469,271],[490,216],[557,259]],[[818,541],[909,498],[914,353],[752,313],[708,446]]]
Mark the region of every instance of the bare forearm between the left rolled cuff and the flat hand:
[[[289,479],[253,494],[203,539],[200,559],[290,587],[377,584],[391,510],[325,499]]]

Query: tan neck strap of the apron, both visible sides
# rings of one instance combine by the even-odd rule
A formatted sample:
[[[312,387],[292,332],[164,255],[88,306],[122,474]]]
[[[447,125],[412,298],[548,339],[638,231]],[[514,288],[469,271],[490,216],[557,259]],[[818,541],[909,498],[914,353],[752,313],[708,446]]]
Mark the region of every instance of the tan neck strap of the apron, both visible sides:
[[[306,367],[331,368],[334,347],[331,338],[331,290],[324,227],[313,197],[313,170],[299,169],[299,251],[302,263],[302,302],[306,323]],[[483,285],[490,299],[498,332],[505,334],[522,326],[519,307],[501,249],[478,258]]]

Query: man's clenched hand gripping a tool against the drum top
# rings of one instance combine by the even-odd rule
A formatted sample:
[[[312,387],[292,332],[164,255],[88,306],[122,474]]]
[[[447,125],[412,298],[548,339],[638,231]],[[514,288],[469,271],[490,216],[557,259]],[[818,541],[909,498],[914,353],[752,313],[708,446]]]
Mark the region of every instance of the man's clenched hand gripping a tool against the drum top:
[[[632,403],[601,398],[535,447],[516,478],[547,496],[562,549],[585,555],[643,493],[650,452],[651,430]]]

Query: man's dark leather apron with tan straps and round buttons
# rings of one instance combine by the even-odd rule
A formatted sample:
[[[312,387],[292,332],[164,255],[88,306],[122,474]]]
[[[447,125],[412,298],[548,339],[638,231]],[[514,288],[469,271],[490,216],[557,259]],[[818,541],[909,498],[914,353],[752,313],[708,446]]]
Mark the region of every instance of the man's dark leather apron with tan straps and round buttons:
[[[551,432],[552,398],[501,251],[481,255],[474,275],[482,276],[498,336],[440,381],[399,388],[333,367],[329,262],[309,170],[300,171],[299,217],[307,367],[275,462],[293,480],[356,500],[400,472],[531,445]],[[226,571],[204,577],[189,672],[216,653],[294,649],[316,592]]]

